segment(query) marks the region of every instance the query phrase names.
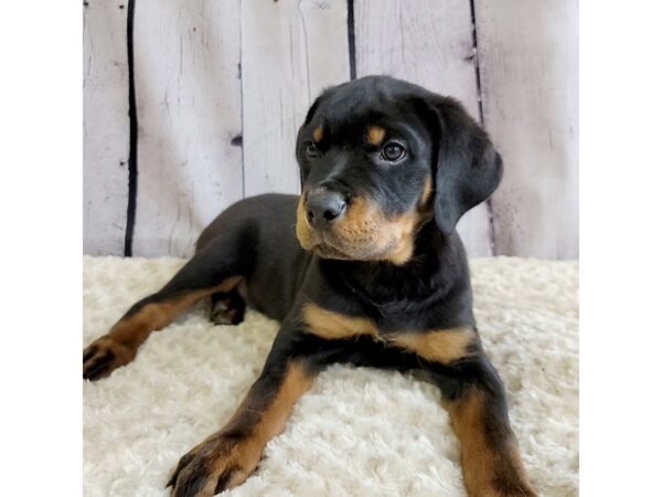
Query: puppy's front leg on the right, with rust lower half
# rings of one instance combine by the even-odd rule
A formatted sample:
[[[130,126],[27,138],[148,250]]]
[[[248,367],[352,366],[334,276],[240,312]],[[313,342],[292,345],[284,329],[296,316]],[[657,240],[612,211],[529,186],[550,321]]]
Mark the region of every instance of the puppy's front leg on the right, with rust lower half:
[[[535,496],[511,430],[505,392],[472,328],[395,336],[415,352],[441,389],[460,441],[465,486],[471,497]]]

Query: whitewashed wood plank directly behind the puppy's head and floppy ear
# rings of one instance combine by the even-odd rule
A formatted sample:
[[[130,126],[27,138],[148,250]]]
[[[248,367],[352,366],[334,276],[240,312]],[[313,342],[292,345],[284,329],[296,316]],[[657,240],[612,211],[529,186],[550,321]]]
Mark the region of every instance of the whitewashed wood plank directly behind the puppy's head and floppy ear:
[[[468,0],[355,0],[356,75],[388,74],[452,96],[479,119]],[[458,232],[471,256],[491,255],[490,220],[480,204]]]

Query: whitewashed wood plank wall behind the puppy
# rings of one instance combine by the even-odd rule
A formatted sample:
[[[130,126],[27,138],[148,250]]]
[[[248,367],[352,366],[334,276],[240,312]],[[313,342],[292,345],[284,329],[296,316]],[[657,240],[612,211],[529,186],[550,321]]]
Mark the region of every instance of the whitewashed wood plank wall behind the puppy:
[[[241,198],[298,193],[314,97],[389,74],[460,99],[502,152],[460,221],[470,255],[578,256],[577,0],[84,6],[85,253],[188,256]]]

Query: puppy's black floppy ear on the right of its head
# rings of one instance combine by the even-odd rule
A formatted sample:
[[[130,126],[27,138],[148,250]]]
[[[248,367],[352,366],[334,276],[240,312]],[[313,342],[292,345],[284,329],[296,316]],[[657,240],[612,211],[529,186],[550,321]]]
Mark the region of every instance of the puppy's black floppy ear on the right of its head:
[[[433,167],[435,220],[439,230],[451,233],[465,212],[496,189],[503,163],[488,134],[459,102],[435,95],[427,104],[435,115],[433,136],[438,140]]]

